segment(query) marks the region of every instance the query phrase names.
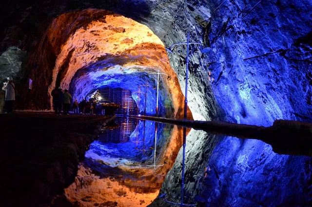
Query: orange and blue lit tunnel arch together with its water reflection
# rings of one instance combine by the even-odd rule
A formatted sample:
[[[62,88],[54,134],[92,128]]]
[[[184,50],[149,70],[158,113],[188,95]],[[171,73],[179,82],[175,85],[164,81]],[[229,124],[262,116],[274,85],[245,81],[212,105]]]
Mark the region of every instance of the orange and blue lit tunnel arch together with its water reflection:
[[[76,27],[67,39],[59,42],[61,46],[48,94],[60,86],[69,90],[73,100],[99,103],[95,96],[106,90],[111,94],[101,97],[109,103],[122,104],[123,99],[129,98],[135,102],[137,111],[126,115],[182,118],[184,96],[176,73],[170,66],[163,43],[147,26],[104,10],[63,14],[54,19],[48,29],[47,39],[52,47],[58,42],[58,36],[62,36],[59,32],[65,24],[64,19],[68,27]],[[77,26],[79,23],[81,25]],[[127,95],[118,95],[122,91]],[[53,104],[52,97],[50,104]],[[118,112],[125,115],[125,111]],[[192,119],[190,110],[188,118]],[[130,200],[137,205],[145,200],[147,205],[156,199],[177,156],[181,127],[156,125],[152,121],[128,117],[119,118],[119,121],[112,121],[119,124],[117,135],[114,129],[103,130],[100,139],[90,145],[85,161],[79,166],[78,177],[65,189],[67,199],[72,203],[87,205],[88,202],[115,200],[119,205],[127,206]],[[122,125],[128,126],[129,122],[134,128],[132,125],[133,130],[127,131],[125,136],[121,132]],[[108,138],[108,135],[118,138]],[[85,184],[85,179],[90,177],[94,179],[92,184]],[[112,192],[108,188],[112,188]],[[84,201],[84,197],[89,197],[89,201]]]

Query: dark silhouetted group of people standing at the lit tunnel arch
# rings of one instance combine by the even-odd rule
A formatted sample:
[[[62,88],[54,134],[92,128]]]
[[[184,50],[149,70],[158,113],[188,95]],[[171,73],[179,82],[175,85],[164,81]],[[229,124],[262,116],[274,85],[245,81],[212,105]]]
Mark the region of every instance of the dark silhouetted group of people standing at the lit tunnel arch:
[[[61,110],[63,108],[64,115],[69,115],[71,109],[71,100],[72,96],[68,93],[68,90],[65,89],[62,91],[62,87],[55,88],[52,93],[53,108],[56,115],[61,115]],[[91,115],[104,115],[104,108],[97,103],[96,100],[90,102],[83,99],[78,103],[77,99],[72,104],[72,109],[74,114],[91,114]]]

